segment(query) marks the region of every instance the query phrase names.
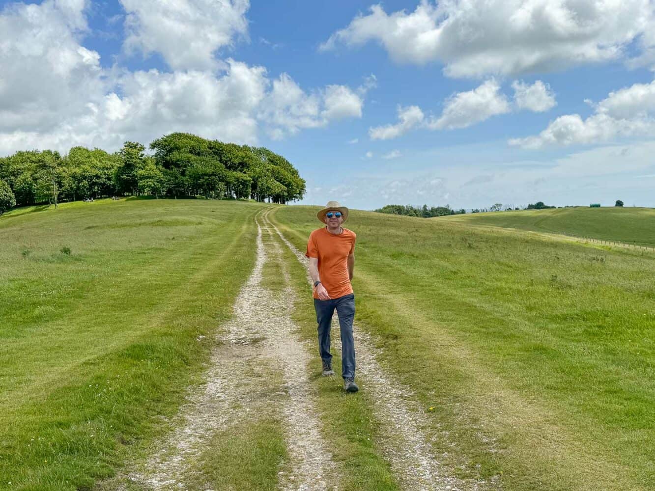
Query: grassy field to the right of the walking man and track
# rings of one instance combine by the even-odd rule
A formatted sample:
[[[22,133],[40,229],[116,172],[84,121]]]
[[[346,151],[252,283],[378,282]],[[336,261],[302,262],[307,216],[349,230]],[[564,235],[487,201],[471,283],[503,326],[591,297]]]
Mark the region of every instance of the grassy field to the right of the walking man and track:
[[[303,250],[315,213],[274,217]],[[356,322],[436,407],[437,452],[508,490],[655,486],[655,255],[360,211],[347,226]]]

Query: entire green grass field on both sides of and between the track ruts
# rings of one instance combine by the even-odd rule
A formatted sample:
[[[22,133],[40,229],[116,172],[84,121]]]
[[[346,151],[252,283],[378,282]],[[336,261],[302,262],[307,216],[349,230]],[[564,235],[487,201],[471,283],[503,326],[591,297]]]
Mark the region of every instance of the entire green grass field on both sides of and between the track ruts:
[[[304,251],[316,208],[273,208]],[[0,489],[115,490],[103,479],[146,461],[222,348],[210,334],[253,268],[263,209],[124,200],[0,218]],[[533,230],[531,213],[493,216],[521,213]],[[655,253],[479,227],[487,216],[353,210],[346,223],[358,234],[356,324],[424,408],[434,453],[506,490],[655,488]],[[269,230],[276,241],[284,247]],[[315,342],[305,270],[288,249],[270,255],[262,281],[295,291],[298,335]],[[255,367],[271,372],[255,416],[208,442],[189,481],[198,489],[270,489],[289,463],[284,380],[274,363]],[[365,381],[346,397],[339,380],[311,373],[341,488],[399,489]]]

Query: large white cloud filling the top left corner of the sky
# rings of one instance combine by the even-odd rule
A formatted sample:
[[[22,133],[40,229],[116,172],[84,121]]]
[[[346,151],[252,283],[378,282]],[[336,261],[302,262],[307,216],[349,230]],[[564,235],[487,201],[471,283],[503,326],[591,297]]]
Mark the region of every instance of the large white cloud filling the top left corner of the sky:
[[[49,128],[102,99],[100,55],[77,41],[83,9],[83,1],[46,0],[0,10],[0,132]]]

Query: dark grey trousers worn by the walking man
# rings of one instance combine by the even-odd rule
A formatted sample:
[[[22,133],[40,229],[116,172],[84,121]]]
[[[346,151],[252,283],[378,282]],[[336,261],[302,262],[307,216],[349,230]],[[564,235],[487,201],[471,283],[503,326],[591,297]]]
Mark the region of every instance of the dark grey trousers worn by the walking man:
[[[323,361],[331,361],[329,352],[330,328],[335,309],[341,327],[341,376],[355,378],[355,342],[352,338],[352,321],[355,318],[355,295],[350,293],[338,299],[314,299],[318,322],[318,351]]]

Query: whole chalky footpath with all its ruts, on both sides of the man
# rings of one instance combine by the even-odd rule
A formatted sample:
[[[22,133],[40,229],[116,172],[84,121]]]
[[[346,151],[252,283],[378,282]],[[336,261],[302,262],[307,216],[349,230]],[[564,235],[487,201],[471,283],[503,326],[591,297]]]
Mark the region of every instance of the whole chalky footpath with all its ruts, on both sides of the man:
[[[174,430],[156,443],[145,462],[121,477],[116,490],[214,490],[198,464],[212,437],[243,422],[274,418],[282,422],[286,460],[278,471],[280,490],[347,490],[348,476],[333,458],[333,445],[316,410],[318,391],[311,374],[320,371],[316,346],[303,341],[292,314],[297,293],[290,268],[307,259],[269,220],[271,209],[255,217],[257,259],[234,304],[234,317],[219,331],[204,384],[190,390],[172,422]],[[284,261],[290,249],[299,263]],[[271,287],[263,271],[279,262],[282,287]],[[307,308],[311,308],[308,302]],[[333,325],[337,325],[335,317]],[[440,464],[428,439],[427,421],[415,397],[384,370],[372,340],[354,327],[357,378],[373,407],[375,446],[402,490],[478,490],[485,482],[461,481]],[[333,349],[340,350],[333,329]],[[198,340],[202,342],[202,340]],[[220,465],[220,462],[216,465]],[[103,488],[105,489],[105,488]],[[217,491],[214,490],[214,491]]]

